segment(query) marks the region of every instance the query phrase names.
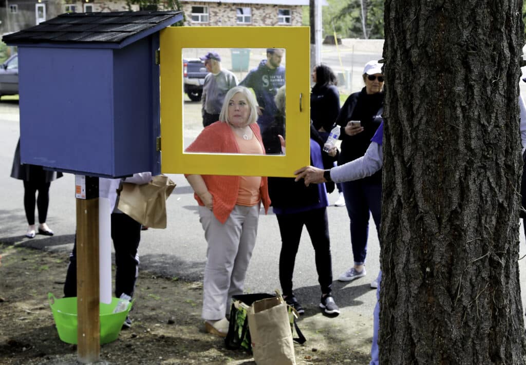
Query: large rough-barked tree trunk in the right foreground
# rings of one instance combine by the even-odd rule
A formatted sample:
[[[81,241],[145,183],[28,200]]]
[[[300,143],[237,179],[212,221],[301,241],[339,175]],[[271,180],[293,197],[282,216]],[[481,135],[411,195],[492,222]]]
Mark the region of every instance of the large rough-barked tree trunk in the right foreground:
[[[386,0],[381,364],[524,364],[522,1]]]

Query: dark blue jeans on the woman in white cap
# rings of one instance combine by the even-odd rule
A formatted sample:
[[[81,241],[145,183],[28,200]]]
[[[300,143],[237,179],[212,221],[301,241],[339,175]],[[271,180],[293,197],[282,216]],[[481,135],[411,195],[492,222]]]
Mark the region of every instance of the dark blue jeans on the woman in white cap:
[[[368,184],[363,179],[342,182],[341,185],[350,219],[351,245],[355,265],[363,265],[367,256],[369,211],[375,220],[376,231],[380,236],[382,185]]]

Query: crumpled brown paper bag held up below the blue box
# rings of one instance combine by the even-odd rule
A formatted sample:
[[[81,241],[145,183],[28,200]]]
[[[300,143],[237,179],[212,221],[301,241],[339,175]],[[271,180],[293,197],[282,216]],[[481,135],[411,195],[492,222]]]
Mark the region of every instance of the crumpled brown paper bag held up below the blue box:
[[[174,188],[175,182],[165,175],[143,185],[123,182],[117,208],[143,226],[166,228],[166,199]]]

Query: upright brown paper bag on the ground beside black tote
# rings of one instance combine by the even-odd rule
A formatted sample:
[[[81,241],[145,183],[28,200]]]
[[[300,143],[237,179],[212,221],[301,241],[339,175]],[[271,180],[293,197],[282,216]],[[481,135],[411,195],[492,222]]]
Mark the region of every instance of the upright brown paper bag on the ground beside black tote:
[[[257,365],[296,365],[287,304],[281,297],[254,302],[247,311]]]

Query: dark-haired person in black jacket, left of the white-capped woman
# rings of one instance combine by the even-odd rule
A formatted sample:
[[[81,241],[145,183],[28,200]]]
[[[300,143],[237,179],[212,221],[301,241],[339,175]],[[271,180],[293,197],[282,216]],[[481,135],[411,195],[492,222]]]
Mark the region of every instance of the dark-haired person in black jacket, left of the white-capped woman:
[[[310,120],[325,143],[340,113],[340,93],[336,87],[338,80],[332,69],[325,64],[315,66],[311,76],[315,85],[310,92]],[[336,186],[339,197],[335,206],[343,207],[345,198],[341,184]]]

